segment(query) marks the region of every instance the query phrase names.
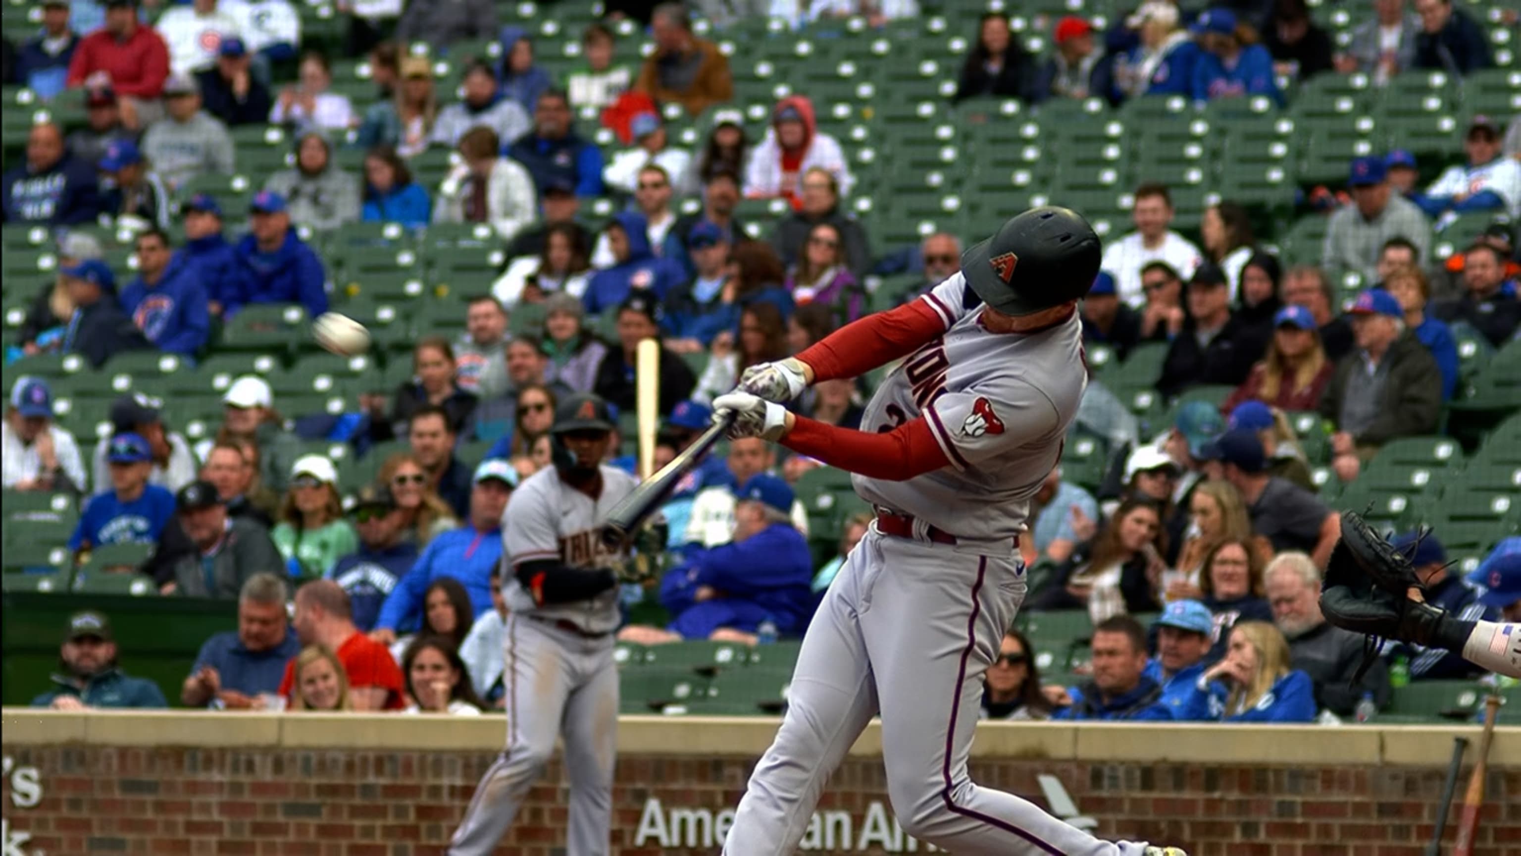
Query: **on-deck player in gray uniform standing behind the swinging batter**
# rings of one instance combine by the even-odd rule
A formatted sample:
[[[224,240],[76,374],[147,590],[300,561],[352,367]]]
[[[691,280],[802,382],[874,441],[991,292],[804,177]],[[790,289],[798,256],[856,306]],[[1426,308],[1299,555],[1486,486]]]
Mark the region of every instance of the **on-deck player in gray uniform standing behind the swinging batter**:
[[[570,396],[551,428],[554,466],[519,486],[506,512],[506,751],[485,772],[449,847],[487,856],[564,736],[569,856],[608,850],[618,752],[616,556],[602,521],[634,478],[604,466],[613,419],[592,394]]]

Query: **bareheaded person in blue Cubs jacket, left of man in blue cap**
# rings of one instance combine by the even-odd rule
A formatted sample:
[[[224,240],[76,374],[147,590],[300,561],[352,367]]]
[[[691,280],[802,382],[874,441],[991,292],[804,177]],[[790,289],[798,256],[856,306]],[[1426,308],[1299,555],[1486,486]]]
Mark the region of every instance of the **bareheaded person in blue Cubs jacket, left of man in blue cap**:
[[[211,335],[211,314],[193,265],[151,228],[137,236],[137,274],[122,289],[122,311],[158,350],[195,356]]]

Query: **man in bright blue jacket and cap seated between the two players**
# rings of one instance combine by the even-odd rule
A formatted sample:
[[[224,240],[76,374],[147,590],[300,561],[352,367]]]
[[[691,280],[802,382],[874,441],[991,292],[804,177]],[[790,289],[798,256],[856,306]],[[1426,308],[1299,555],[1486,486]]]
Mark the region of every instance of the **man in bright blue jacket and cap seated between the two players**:
[[[678,638],[753,644],[765,623],[802,635],[812,617],[814,557],[788,518],[791,507],[792,489],[780,477],[762,472],[745,481],[736,492],[732,541],[689,550],[686,562],[666,571],[660,603],[671,624],[665,632],[640,629],[646,644]]]

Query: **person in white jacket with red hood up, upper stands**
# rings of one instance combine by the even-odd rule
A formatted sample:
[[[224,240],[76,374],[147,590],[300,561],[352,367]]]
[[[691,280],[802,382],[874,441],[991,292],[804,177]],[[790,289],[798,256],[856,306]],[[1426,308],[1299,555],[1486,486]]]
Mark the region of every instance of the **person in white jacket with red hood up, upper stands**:
[[[815,168],[835,177],[840,196],[850,195],[855,178],[850,177],[844,151],[838,140],[818,129],[814,120],[814,102],[800,94],[783,97],[771,111],[771,129],[750,157],[745,196],[783,198],[794,209],[800,209],[803,175]]]

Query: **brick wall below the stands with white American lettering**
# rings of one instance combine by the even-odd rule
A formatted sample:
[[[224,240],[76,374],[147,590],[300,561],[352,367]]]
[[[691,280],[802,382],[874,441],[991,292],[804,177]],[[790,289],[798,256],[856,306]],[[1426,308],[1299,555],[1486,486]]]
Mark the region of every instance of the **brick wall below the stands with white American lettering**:
[[[0,795],[5,856],[438,854],[493,757],[487,749],[15,743],[9,731],[8,725]],[[613,853],[716,853],[704,841],[713,824],[727,822],[722,812],[738,801],[750,763],[750,757],[622,755]],[[976,780],[1045,806],[1040,774],[1062,783],[1077,809],[1097,819],[1101,836],[1180,844],[1192,856],[1419,856],[1445,771],[1028,755],[973,763]],[[557,763],[546,781],[558,783],[560,775]],[[563,786],[537,786],[499,853],[563,853],[564,803]],[[878,759],[849,759],[820,810],[814,850],[913,847],[891,824]],[[686,844],[689,835],[697,845]],[[1480,856],[1521,853],[1521,769],[1513,765],[1489,775],[1478,842]]]

